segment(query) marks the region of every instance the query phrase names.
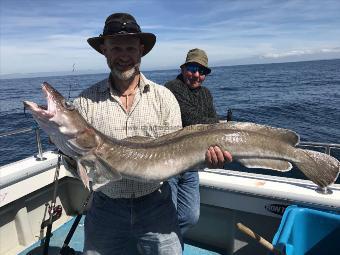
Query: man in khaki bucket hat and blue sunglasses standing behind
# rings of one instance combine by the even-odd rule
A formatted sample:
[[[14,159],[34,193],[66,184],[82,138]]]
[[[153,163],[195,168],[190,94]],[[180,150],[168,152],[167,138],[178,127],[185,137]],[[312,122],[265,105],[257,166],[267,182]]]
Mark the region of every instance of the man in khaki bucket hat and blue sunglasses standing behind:
[[[209,124],[219,121],[210,91],[202,86],[210,74],[208,57],[201,49],[189,50],[186,61],[181,65],[181,73],[165,87],[175,95],[180,109],[183,127],[194,124]],[[211,168],[223,168],[224,162],[230,162],[229,152],[222,152],[219,147],[210,147],[206,161]],[[195,225],[200,213],[199,176],[193,169],[168,180],[172,190],[172,200],[177,208],[181,233]]]

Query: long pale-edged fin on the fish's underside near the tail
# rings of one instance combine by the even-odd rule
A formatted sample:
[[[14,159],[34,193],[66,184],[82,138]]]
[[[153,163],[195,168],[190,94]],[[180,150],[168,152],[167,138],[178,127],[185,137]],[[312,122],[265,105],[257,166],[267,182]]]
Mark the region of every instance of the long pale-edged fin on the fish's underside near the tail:
[[[264,168],[280,172],[287,172],[292,169],[292,164],[285,160],[267,158],[244,158],[238,159],[242,165],[248,168]]]

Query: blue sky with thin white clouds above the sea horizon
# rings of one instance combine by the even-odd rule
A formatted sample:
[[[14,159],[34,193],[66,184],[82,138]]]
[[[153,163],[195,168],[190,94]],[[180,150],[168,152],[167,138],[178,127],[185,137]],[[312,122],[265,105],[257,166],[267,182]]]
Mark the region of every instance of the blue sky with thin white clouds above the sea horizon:
[[[176,69],[192,48],[211,67],[340,58],[339,0],[0,0],[0,75],[107,72],[86,40],[114,12],[157,36],[142,70]]]

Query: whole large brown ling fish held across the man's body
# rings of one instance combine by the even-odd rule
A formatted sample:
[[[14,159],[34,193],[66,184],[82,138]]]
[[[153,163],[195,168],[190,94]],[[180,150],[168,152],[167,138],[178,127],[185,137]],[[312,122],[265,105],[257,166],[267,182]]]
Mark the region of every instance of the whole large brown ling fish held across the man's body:
[[[25,101],[53,143],[77,161],[84,185],[99,187],[122,177],[160,182],[205,162],[211,145],[228,150],[233,160],[249,168],[289,171],[295,164],[320,187],[334,183],[339,161],[316,151],[296,148],[299,136],[290,130],[254,123],[227,122],[194,125],[159,138],[117,140],[88,124],[72,103],[48,83],[42,90],[47,109]],[[97,185],[97,186],[96,186]]]

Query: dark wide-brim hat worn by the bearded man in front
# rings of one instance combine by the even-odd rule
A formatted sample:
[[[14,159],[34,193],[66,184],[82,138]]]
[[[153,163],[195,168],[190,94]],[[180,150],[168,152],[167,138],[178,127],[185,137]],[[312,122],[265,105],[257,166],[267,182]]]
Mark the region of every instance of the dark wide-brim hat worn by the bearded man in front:
[[[105,38],[113,38],[116,36],[134,36],[140,39],[144,45],[143,56],[148,54],[156,43],[156,36],[152,33],[144,33],[135,18],[128,13],[114,13],[107,17],[103,29],[103,33],[97,37],[87,39],[87,42],[103,54],[100,45],[104,43]]]

